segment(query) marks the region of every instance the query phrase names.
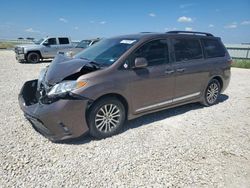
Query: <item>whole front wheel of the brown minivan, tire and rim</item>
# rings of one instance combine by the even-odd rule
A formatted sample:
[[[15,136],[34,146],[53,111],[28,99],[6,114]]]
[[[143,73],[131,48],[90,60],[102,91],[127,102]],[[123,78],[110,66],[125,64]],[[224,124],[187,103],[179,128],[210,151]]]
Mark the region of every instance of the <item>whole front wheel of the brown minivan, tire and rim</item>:
[[[87,121],[89,133],[97,139],[113,136],[120,132],[125,122],[124,105],[114,97],[105,97],[89,109]]]

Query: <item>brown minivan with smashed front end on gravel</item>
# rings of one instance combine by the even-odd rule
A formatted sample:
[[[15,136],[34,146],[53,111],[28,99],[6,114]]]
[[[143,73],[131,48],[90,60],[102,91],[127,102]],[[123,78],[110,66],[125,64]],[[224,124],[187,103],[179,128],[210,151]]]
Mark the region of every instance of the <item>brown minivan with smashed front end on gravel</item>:
[[[19,104],[52,141],[118,133],[125,120],[192,102],[217,102],[231,58],[210,33],[171,31],[103,39],[73,58],[57,55]]]

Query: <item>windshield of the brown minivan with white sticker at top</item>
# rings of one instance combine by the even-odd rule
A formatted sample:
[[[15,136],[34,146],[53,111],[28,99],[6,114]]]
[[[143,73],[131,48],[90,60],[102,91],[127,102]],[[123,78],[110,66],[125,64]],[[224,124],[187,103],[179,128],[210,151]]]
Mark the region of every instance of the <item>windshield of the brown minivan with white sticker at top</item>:
[[[86,50],[75,55],[75,58],[88,59],[101,66],[112,65],[121,55],[131,48],[135,39],[103,39]]]

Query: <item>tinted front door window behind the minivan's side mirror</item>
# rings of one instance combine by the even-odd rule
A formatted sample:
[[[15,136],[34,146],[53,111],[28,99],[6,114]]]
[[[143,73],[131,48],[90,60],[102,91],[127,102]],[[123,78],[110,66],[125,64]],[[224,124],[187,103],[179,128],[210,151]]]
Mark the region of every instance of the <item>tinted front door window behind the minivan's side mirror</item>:
[[[136,57],[144,57],[148,66],[169,62],[167,40],[155,40],[144,44],[135,52]]]

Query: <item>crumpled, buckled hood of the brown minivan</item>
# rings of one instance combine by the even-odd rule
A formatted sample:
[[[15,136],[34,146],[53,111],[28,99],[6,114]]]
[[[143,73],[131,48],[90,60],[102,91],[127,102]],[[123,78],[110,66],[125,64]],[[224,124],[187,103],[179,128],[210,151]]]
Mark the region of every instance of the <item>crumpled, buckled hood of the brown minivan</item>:
[[[65,77],[79,72],[88,63],[85,59],[73,59],[58,54],[46,72],[45,82],[49,85],[61,82]]]

